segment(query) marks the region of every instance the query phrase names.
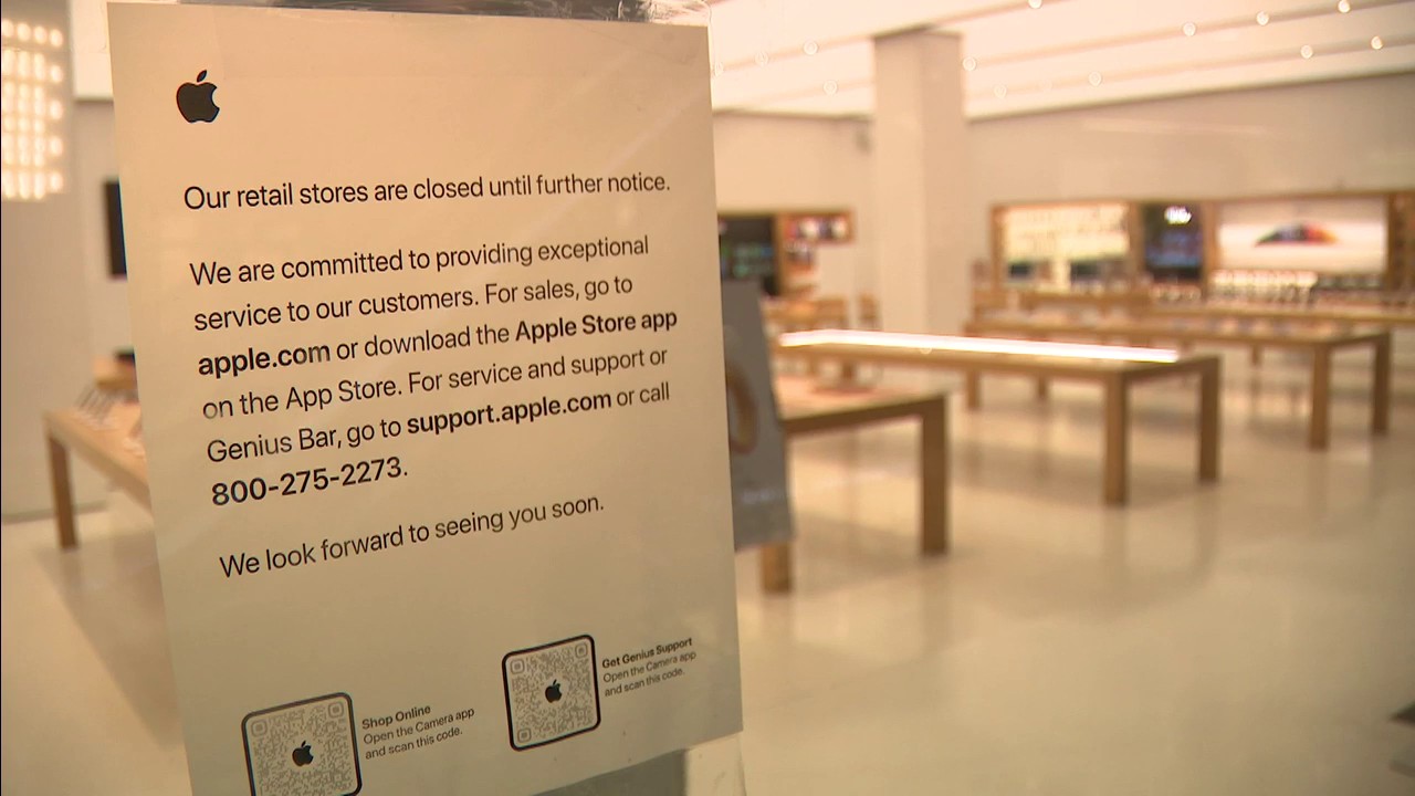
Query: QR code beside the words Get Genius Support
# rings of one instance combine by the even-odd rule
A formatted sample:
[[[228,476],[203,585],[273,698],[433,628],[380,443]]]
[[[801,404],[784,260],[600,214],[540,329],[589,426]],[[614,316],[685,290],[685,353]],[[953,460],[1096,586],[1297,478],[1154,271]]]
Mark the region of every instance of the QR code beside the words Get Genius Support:
[[[531,749],[600,725],[594,639],[576,636],[501,659],[514,749]]]

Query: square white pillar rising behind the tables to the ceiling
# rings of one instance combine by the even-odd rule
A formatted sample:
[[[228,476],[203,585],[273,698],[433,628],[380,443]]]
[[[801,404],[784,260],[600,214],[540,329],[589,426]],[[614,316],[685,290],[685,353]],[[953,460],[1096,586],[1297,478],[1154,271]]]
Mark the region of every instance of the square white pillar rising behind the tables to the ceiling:
[[[962,42],[910,30],[874,40],[874,273],[883,327],[958,333],[966,258]]]

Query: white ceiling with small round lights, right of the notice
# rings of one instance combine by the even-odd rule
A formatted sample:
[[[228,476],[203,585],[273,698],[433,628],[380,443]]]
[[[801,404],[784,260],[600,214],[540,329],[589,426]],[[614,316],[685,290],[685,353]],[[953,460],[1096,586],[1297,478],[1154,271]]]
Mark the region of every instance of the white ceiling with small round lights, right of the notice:
[[[971,118],[1415,71],[1415,0],[1030,1],[719,0],[713,106],[869,116],[872,38],[911,27],[962,35]]]

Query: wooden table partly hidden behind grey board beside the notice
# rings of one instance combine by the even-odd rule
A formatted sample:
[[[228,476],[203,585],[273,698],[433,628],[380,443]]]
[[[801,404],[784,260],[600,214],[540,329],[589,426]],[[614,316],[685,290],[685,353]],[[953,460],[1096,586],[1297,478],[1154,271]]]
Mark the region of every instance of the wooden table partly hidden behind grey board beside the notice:
[[[821,392],[809,381],[777,381],[781,429],[788,440],[811,433],[853,429],[918,418],[918,550],[948,552],[948,394]],[[791,591],[791,545],[761,547],[761,589]]]

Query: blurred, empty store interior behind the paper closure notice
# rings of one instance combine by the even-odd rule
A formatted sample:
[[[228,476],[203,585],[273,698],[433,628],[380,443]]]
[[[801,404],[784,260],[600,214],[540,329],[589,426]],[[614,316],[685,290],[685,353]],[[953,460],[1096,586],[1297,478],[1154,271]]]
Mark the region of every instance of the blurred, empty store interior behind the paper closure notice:
[[[681,790],[1415,790],[1415,4],[799,6],[708,4],[794,533],[737,552],[744,729]],[[153,518],[78,456],[59,500],[45,435],[130,398],[102,6],[6,4],[7,130],[21,17],[59,132],[24,197],[6,133],[0,790],[188,793]],[[903,399],[942,428],[788,416]]]

